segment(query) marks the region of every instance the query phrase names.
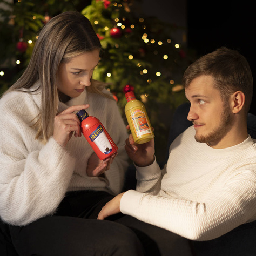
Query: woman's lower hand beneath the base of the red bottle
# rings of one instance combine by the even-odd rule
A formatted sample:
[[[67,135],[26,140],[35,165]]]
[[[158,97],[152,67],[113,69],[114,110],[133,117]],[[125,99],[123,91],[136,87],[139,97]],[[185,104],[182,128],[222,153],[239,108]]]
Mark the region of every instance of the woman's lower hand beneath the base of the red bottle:
[[[104,160],[99,160],[96,153],[92,153],[88,159],[86,173],[89,177],[97,177],[100,174],[110,169],[110,165],[113,163],[114,158],[118,155],[118,152],[112,154]]]

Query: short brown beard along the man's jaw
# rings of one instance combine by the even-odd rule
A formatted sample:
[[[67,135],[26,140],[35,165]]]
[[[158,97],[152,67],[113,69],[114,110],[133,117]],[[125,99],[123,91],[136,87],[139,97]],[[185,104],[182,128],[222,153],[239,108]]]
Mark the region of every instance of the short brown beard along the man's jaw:
[[[220,125],[215,128],[213,131],[206,135],[200,135],[197,136],[197,134],[194,136],[197,142],[200,143],[211,143],[215,140],[220,140],[222,139],[227,132],[230,130],[232,124],[233,124],[233,118],[232,114],[230,112],[228,104],[224,103],[224,109],[223,112],[221,113],[221,123]]]

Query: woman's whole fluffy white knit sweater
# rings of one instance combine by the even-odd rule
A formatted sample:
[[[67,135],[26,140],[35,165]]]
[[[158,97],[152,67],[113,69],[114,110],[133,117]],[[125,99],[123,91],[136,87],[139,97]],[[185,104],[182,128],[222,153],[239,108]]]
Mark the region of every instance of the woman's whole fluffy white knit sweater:
[[[107,93],[107,91],[105,91]],[[117,194],[122,190],[127,155],[127,131],[114,100],[84,91],[66,104],[90,104],[86,111],[97,117],[119,147],[119,154],[105,177],[87,177],[87,160],[93,150],[82,137],[65,148],[51,137],[43,145],[35,140],[31,120],[38,114],[38,92],[10,92],[0,100],[0,216],[14,225],[25,225],[56,211],[67,191],[96,190]]]

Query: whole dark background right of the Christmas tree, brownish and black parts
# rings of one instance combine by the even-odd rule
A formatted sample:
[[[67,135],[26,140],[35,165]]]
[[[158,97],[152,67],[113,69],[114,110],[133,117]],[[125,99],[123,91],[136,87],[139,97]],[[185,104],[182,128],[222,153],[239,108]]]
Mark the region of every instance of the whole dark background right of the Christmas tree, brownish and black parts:
[[[248,60],[253,78],[254,93],[250,112],[256,114],[256,15],[254,1],[194,1],[143,0],[143,11],[165,22],[184,28],[177,35],[189,49],[200,57],[221,46],[238,50]]]

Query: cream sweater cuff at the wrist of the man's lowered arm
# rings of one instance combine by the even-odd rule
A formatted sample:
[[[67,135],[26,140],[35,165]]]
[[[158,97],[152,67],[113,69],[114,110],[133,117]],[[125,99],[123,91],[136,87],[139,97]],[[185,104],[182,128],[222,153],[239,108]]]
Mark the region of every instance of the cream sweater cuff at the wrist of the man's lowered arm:
[[[123,214],[132,215],[132,211],[138,208],[143,193],[135,190],[128,190],[125,192],[120,201],[120,211]]]

